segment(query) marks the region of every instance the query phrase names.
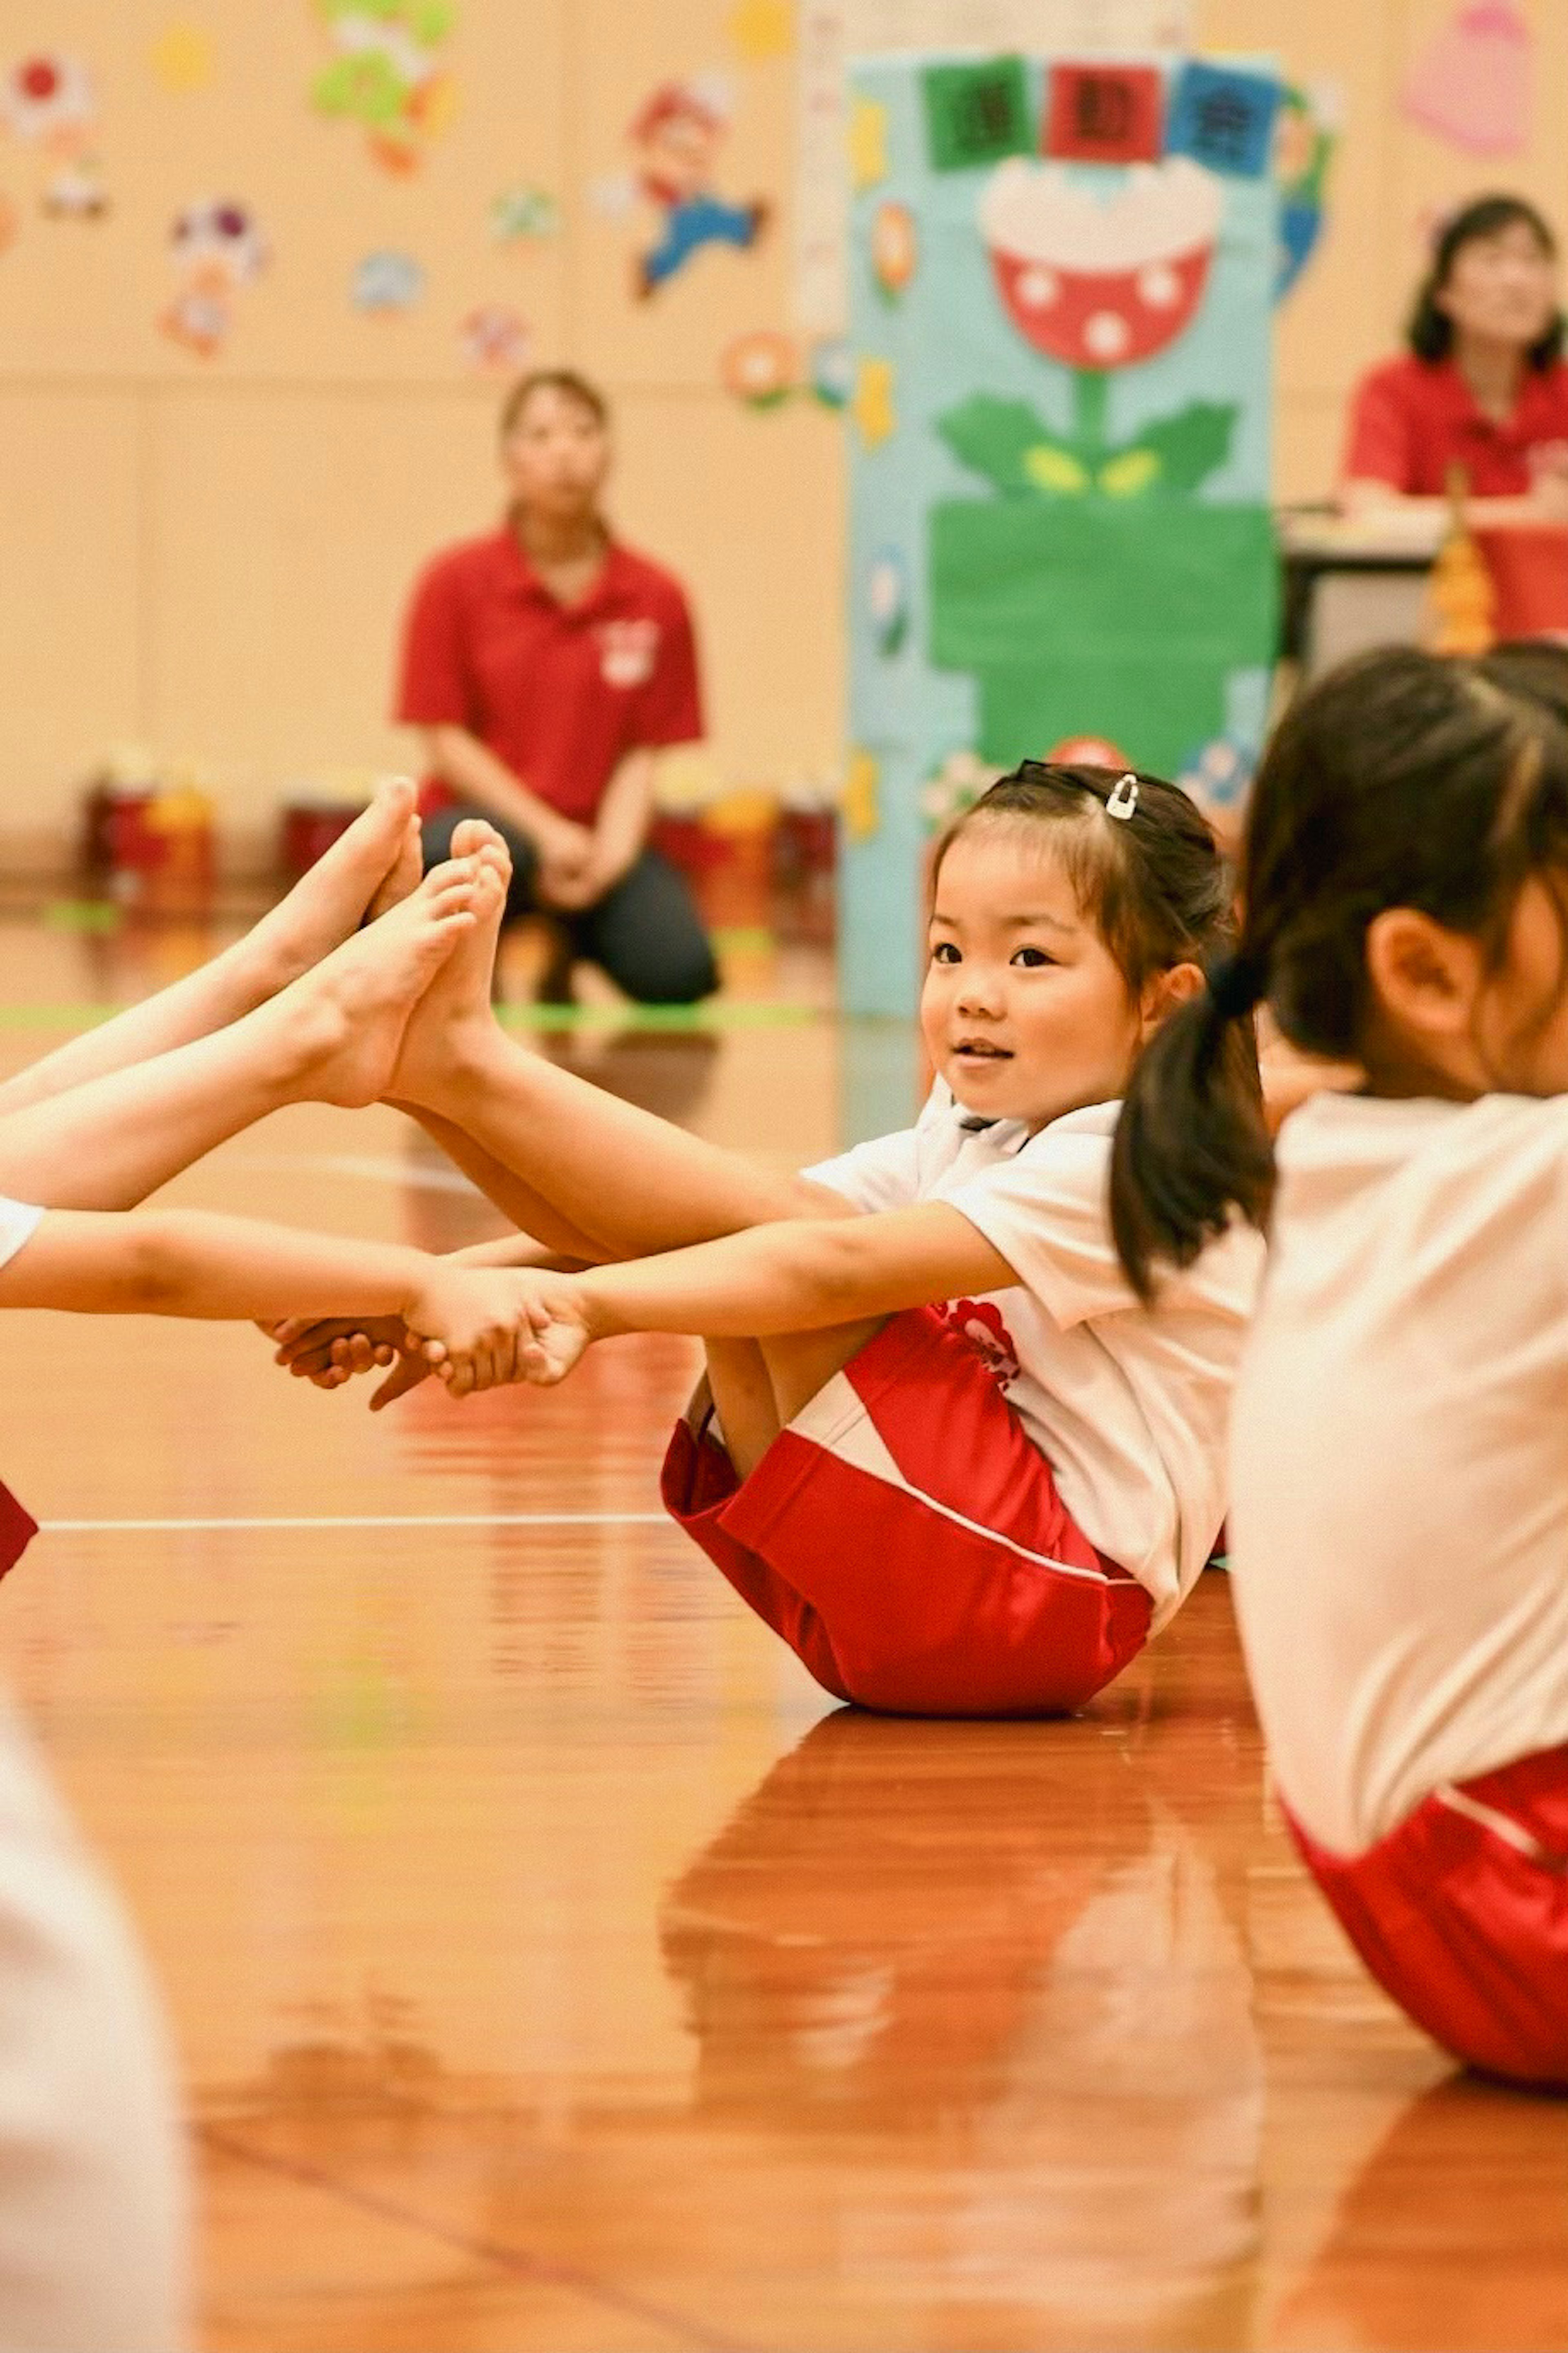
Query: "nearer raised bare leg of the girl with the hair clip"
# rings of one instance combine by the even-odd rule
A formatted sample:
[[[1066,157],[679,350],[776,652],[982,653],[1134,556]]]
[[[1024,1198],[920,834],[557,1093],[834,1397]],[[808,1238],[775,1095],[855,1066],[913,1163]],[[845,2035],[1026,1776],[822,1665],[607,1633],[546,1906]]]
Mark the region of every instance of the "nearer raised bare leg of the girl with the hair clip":
[[[466,852],[487,831],[459,833],[452,847]],[[577,1235],[558,1247],[633,1259],[782,1217],[848,1214],[826,1188],[758,1169],[513,1045],[490,1009],[494,941],[483,934],[485,927],[459,946],[417,1007],[391,1099],[421,1120],[461,1129],[532,1202],[549,1205]],[[483,1162],[471,1167],[476,1181],[516,1214],[480,1169]],[[553,1240],[537,1214],[523,1217],[525,1228]]]

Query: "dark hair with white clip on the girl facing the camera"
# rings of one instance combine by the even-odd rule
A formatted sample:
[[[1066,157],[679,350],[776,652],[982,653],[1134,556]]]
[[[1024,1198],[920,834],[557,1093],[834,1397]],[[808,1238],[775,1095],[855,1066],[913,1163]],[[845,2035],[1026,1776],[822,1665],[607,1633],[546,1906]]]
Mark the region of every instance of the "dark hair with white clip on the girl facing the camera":
[[[1118,788],[1137,786],[1132,816],[1107,816]],[[1198,807],[1142,769],[1022,760],[939,838],[932,889],[954,842],[979,824],[1048,824],[1081,913],[1104,939],[1137,995],[1172,965],[1208,965],[1236,936],[1231,871]],[[1236,1087],[1260,1092],[1250,1031],[1227,1040]]]

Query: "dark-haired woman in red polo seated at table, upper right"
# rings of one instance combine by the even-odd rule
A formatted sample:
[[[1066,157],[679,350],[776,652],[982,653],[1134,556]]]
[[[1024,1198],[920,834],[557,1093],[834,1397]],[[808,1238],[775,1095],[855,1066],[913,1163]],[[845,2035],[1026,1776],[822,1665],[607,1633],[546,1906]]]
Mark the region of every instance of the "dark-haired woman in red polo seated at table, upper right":
[[[1556,240],[1533,205],[1483,195],[1448,221],[1408,344],[1356,391],[1342,504],[1436,513],[1462,468],[1497,635],[1568,633],[1568,367]]]

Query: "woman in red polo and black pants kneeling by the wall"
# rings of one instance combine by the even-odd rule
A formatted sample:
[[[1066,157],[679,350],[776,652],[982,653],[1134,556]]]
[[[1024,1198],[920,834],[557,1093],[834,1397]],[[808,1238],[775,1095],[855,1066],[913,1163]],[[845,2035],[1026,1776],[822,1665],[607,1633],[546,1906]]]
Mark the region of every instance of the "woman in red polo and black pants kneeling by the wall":
[[[645,1005],[718,986],[683,875],[647,847],[655,753],[702,736],[680,584],[605,525],[603,395],[567,369],[501,409],[506,520],[419,576],[398,718],[424,732],[426,864],[464,816],[511,842],[511,913],[544,908]],[[553,974],[551,995],[570,993]]]

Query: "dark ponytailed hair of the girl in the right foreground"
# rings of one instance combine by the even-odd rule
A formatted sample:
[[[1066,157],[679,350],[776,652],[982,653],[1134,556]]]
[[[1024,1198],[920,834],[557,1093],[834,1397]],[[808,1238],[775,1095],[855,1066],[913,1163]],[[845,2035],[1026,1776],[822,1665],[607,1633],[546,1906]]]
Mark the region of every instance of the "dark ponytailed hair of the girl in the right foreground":
[[[1410,906],[1500,958],[1521,885],[1568,866],[1568,734],[1481,668],[1358,654],[1285,713],[1253,786],[1234,960],[1140,1056],[1111,1151],[1111,1231],[1140,1297],[1231,1209],[1267,1226],[1274,1151],[1224,1061],[1267,1002],[1307,1054],[1361,1061],[1366,934]]]

